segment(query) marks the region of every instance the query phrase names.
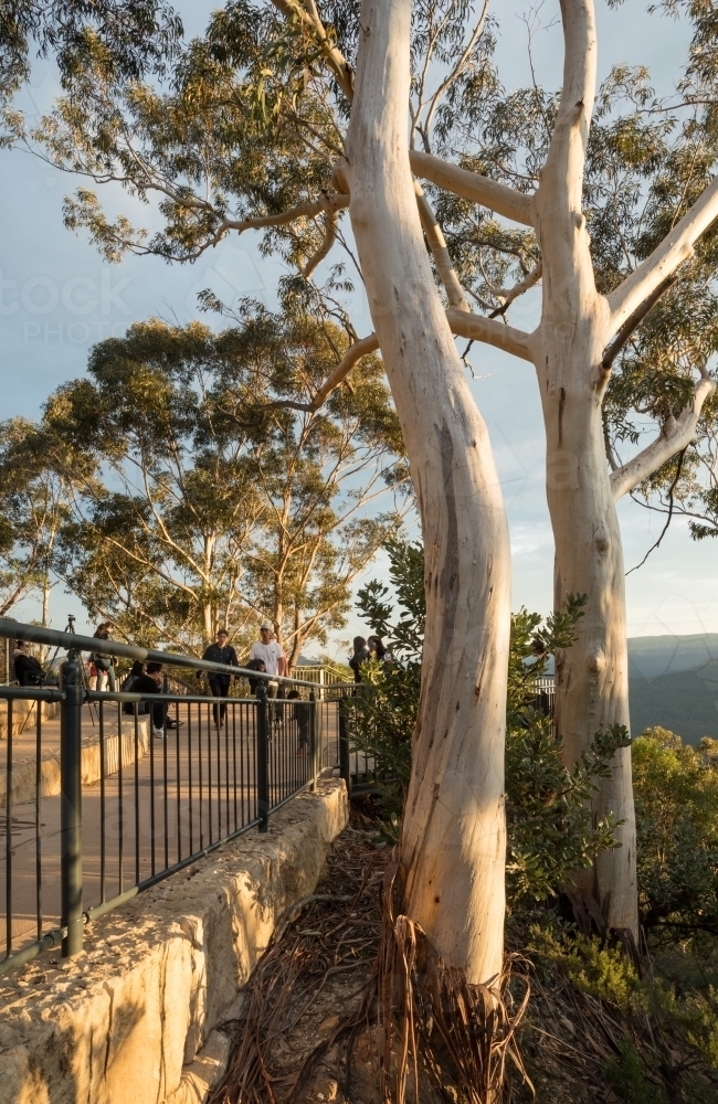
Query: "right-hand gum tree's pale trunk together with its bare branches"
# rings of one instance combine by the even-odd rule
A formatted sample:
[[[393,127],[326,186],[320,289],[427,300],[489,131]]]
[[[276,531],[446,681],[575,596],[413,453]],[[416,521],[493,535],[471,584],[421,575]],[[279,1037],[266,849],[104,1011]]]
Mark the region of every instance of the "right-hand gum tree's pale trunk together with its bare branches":
[[[419,151],[412,153],[412,167],[436,188],[530,227],[538,243],[540,261],[524,282],[525,287],[542,283],[541,321],[532,333],[495,328],[489,318],[477,319],[455,308],[448,315],[455,332],[489,341],[536,367],[556,541],[556,607],[561,608],[569,594],[587,595],[574,644],[557,655],[557,725],[570,765],[588,752],[596,731],[629,725],[624,564],[616,502],[690,444],[716,388],[705,364],[697,364],[697,379],[677,416],[667,417],[656,439],[627,463],[611,464],[603,405],[612,364],[718,215],[718,181],[708,184],[679,221],[674,220],[667,236],[610,294],[596,290],[583,211],[596,84],[592,0],[561,0],[561,20],[562,88],[536,191],[513,191]],[[511,293],[501,299],[509,304]],[[504,315],[504,307],[498,312]],[[611,777],[601,782],[595,795],[594,811],[623,821],[617,830],[622,847],[603,851],[592,871],[579,873],[579,888],[599,901],[612,927],[637,936],[630,747],[616,753]]]

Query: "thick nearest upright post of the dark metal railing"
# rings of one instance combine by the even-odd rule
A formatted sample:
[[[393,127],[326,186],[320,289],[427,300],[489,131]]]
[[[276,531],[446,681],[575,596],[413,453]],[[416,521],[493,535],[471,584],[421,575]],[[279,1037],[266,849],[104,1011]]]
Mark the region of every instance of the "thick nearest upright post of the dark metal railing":
[[[82,913],[82,703],[84,690],[80,654],[67,652],[62,665],[64,698],[60,705],[60,881],[63,958],[80,954],[83,945]]]

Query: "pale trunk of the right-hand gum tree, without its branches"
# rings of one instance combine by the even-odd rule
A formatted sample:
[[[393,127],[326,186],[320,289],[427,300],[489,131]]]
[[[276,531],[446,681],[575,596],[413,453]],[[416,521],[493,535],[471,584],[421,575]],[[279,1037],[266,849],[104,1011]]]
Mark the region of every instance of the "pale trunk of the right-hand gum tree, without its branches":
[[[543,310],[532,341],[547,440],[547,498],[556,542],[555,604],[588,597],[571,648],[557,656],[557,725],[568,766],[600,729],[629,725],[625,586],[621,534],[603,439],[601,367],[610,310],[593,278],[581,210],[583,162],[595,88],[590,0],[564,0],[563,89],[550,152],[535,197],[543,259]],[[624,820],[620,849],[603,852],[579,889],[593,893],[613,927],[637,937],[635,815],[631,750],[614,758],[595,796],[598,817]]]

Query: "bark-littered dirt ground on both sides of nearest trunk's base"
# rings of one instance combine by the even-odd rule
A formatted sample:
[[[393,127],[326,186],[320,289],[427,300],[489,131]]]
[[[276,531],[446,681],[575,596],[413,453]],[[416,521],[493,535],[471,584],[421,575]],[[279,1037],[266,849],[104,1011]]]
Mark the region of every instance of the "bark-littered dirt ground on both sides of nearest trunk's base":
[[[285,917],[253,975],[228,1073],[210,1104],[382,1104],[382,1040],[372,981],[391,851],[378,843],[376,822],[355,809],[315,894]],[[617,1051],[615,1025],[603,1023],[600,1008],[595,1018],[587,1018],[570,994],[555,996],[532,985],[519,1033],[532,1084],[507,1065],[501,1101],[620,1104],[602,1076],[606,1058]],[[406,1104],[416,1104],[412,1081],[410,1074]],[[425,1072],[420,1074],[421,1104],[464,1100],[471,1094],[458,1093],[451,1079],[440,1091]]]

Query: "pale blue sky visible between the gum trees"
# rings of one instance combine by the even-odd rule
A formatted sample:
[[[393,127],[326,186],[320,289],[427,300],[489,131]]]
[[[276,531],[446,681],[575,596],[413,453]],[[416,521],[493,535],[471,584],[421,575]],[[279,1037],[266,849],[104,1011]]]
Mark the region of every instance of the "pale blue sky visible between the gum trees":
[[[211,4],[180,4],[190,32],[201,29]],[[527,32],[520,14],[526,0],[495,6],[500,19],[498,60],[507,87],[528,79]],[[547,0],[543,23],[558,12]],[[617,11],[599,3],[600,70],[612,64],[647,64],[662,92],[672,87],[687,43],[687,28],[646,14],[644,0],[626,0]],[[534,39],[538,78],[553,86],[562,61],[560,29]],[[46,109],[55,92],[52,68],[38,66],[21,96],[29,112]],[[89,347],[109,333],[122,333],[136,319],[159,315],[181,322],[198,317],[196,295],[212,286],[223,297],[252,294],[274,300],[283,269],[258,256],[251,236],[226,240],[192,267],[168,266],[156,258],[130,257],[104,265],[84,235],[62,225],[63,197],[75,181],[19,151],[0,151],[0,388],[2,417],[36,416],[47,394],[64,380],[82,374]],[[113,201],[114,205],[114,201]],[[130,215],[135,205],[119,206]],[[360,331],[369,319],[361,307]],[[526,298],[517,325],[531,328],[537,301]],[[207,316],[202,316],[208,320]],[[534,370],[496,350],[474,347],[476,381],[472,389],[486,418],[504,486],[514,548],[514,607],[548,611],[551,604],[552,541],[543,491],[543,433]],[[626,567],[637,563],[663,526],[631,502],[620,508]],[[677,521],[646,565],[627,578],[629,631],[632,636],[718,631],[718,544],[693,542]],[[371,574],[371,572],[370,572]],[[53,623],[64,623],[77,603],[56,590]],[[77,611],[80,612],[80,611]],[[30,616],[24,604],[15,616]],[[342,639],[359,630],[351,619]]]

